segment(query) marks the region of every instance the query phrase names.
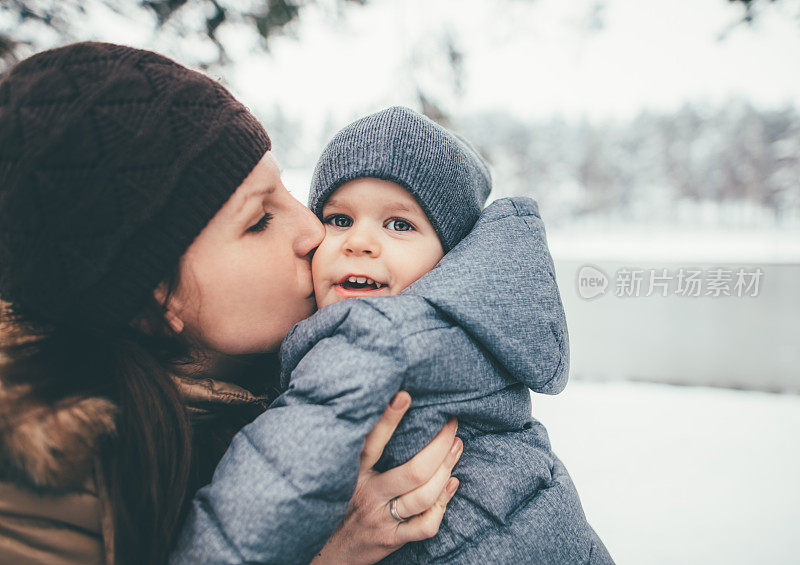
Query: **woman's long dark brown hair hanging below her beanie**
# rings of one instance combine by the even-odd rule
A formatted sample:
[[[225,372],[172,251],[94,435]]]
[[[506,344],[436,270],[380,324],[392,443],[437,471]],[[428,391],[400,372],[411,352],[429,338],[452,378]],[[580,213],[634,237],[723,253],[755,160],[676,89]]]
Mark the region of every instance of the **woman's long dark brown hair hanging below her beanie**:
[[[177,269],[168,295],[176,285]],[[165,562],[191,494],[191,426],[171,375],[192,348],[164,312],[153,298],[136,327],[110,331],[43,322],[8,304],[0,311],[4,383],[51,406],[97,396],[119,409],[98,455],[121,564]]]

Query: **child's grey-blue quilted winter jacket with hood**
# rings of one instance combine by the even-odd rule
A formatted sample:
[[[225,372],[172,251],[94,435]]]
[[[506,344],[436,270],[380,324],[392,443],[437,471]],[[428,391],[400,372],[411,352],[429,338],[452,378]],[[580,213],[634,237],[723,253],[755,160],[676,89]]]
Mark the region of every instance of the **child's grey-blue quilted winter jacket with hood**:
[[[345,515],[364,437],[401,389],[412,406],[378,466],[407,461],[453,416],[464,453],[439,534],[387,563],[613,563],[531,417],[529,389],[563,390],[569,359],[533,200],[494,202],[399,296],[323,308],[281,355],[285,393],[198,493],[174,563],[309,562]]]

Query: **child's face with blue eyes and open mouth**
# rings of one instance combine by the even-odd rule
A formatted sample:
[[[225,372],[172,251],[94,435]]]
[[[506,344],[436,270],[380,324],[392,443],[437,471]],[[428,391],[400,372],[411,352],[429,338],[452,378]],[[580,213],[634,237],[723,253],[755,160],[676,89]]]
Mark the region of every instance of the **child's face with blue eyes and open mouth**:
[[[444,256],[439,237],[400,185],[359,178],[340,186],[322,209],[325,239],[311,274],[317,306],[355,296],[392,296]]]

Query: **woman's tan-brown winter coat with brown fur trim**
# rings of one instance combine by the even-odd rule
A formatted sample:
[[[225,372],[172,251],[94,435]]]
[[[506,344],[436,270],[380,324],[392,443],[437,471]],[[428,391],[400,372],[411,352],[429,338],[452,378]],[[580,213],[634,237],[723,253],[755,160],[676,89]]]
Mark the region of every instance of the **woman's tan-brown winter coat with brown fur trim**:
[[[236,421],[238,429],[267,406],[266,397],[231,383],[175,379],[193,422],[207,429],[217,421]],[[114,525],[96,453],[114,434],[116,407],[78,398],[50,410],[26,398],[25,390],[0,381],[0,563],[114,563]],[[223,443],[236,429],[223,434]],[[224,445],[213,457],[222,452]]]

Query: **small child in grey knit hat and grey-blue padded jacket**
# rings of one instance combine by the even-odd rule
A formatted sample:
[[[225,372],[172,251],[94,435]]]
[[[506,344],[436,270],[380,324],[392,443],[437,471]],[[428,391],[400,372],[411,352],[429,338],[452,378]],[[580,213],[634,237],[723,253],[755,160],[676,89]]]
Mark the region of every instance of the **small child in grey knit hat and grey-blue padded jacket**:
[[[242,515],[220,544],[251,561],[310,561],[345,515],[364,438],[402,389],[412,405],[379,470],[408,461],[453,417],[464,447],[439,533],[385,562],[613,563],[531,416],[529,389],[556,394],[568,373],[544,225],[529,198],[481,211],[490,188],[468,143],[406,108],[328,144],[309,198],[326,230],[312,261],[320,310],[283,342],[285,392],[229,450],[280,457],[205,491],[209,505],[257,496],[283,510]],[[271,523],[281,526],[263,539]],[[251,536],[247,524],[258,526]]]

